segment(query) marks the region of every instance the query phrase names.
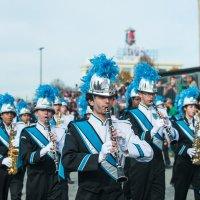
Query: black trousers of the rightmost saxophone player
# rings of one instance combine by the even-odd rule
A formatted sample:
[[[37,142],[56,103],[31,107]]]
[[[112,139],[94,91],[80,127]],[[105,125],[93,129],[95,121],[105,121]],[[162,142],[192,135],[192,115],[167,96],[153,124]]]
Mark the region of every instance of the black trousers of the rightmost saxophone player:
[[[195,200],[200,199],[200,167],[190,158],[178,156],[174,165],[175,200],[186,200],[190,184],[194,187]]]

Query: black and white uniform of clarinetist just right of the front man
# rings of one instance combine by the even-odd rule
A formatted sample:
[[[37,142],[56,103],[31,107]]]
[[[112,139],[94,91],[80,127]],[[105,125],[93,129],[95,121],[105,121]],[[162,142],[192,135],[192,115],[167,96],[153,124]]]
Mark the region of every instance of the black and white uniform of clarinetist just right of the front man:
[[[142,103],[138,108],[129,109],[123,115],[128,119],[132,128],[140,139],[147,141],[153,151],[153,160],[148,163],[140,163],[134,159],[127,159],[125,171],[128,175],[130,194],[127,199],[137,200],[164,200],[165,198],[165,165],[162,156],[163,137],[160,129],[153,133],[153,127],[161,120],[153,107],[147,107]],[[173,129],[174,137],[177,131]],[[125,187],[126,188],[126,187]],[[126,188],[127,189],[127,188]]]

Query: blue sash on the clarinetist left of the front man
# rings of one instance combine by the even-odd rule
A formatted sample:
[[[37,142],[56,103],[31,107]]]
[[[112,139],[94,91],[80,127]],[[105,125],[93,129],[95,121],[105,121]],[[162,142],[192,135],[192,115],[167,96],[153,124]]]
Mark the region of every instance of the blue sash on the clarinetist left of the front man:
[[[35,126],[27,127],[26,131],[40,148],[44,148],[47,144],[49,144],[49,140]],[[48,152],[47,155],[54,159],[54,155],[52,153]]]

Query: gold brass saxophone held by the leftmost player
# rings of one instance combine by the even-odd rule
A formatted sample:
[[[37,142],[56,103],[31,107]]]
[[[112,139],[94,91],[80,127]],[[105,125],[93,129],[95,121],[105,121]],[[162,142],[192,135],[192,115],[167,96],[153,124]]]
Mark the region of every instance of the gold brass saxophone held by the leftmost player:
[[[19,149],[13,145],[15,141],[15,136],[16,131],[14,130],[14,127],[12,125],[10,130],[10,139],[8,146],[8,157],[10,157],[12,160],[12,165],[8,168],[9,175],[14,175],[17,173],[17,160],[19,155]]]

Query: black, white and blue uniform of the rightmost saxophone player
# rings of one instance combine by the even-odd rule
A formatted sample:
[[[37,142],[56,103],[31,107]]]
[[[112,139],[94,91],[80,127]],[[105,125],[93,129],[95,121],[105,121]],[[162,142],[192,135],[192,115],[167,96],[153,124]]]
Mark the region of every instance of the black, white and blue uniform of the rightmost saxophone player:
[[[179,119],[173,122],[179,132],[179,140],[175,150],[175,162],[173,166],[173,183],[175,188],[175,200],[185,200],[190,184],[193,185],[195,200],[200,200],[200,166],[192,164],[187,150],[192,148],[194,140],[193,119]]]

